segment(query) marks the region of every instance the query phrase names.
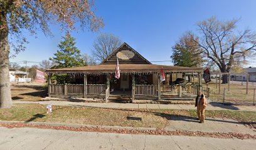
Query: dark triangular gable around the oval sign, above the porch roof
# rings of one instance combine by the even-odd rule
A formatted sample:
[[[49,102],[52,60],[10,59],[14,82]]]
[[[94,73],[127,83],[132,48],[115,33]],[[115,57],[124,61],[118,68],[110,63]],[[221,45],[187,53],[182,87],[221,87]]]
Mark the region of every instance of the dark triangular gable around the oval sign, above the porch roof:
[[[102,61],[102,63],[100,64],[110,64],[108,63],[108,61],[110,61],[110,59],[114,59],[116,58],[116,54],[119,51],[122,51],[123,49],[128,49],[129,51],[132,51],[135,56],[137,56],[137,61],[140,59],[142,64],[152,64],[149,61],[147,61],[146,58],[144,58],[143,56],[141,56],[141,54],[139,54],[135,49],[133,49],[131,46],[129,46],[126,42],[124,42],[121,46],[119,46],[117,49],[115,49],[115,51],[113,51],[104,61]],[[120,63],[122,63],[122,60],[119,60]],[[132,63],[132,60],[130,60],[130,63]],[[112,63],[113,64],[113,63]],[[138,64],[138,63],[136,63]]]

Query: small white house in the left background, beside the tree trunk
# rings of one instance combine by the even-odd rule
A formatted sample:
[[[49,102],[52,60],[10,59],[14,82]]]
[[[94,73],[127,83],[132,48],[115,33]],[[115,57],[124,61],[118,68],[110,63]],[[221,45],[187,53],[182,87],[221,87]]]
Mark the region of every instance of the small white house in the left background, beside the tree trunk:
[[[26,78],[29,73],[24,71],[11,70],[9,71],[10,82],[14,83],[25,83],[31,82],[31,78]]]

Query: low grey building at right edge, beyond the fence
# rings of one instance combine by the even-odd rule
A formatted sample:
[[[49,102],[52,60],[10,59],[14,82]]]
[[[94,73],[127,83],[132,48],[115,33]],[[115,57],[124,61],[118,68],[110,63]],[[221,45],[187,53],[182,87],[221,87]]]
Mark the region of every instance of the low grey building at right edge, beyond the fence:
[[[242,74],[233,74],[231,81],[247,81],[247,74],[249,76],[249,82],[256,82],[256,68],[243,68]]]

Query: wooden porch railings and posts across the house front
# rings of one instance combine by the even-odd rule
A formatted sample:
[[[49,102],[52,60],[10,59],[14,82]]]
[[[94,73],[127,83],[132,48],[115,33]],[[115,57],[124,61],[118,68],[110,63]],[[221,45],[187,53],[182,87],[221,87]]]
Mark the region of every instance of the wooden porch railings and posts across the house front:
[[[110,74],[104,77],[105,84],[87,84],[86,74],[83,84],[51,84],[51,81],[48,81],[50,83],[48,84],[48,94],[49,97],[59,98],[102,98],[107,103],[109,99],[130,99],[131,101],[134,99],[186,100],[195,99],[199,90],[203,91],[206,97],[209,96],[210,92],[209,88],[200,85],[200,78],[198,78],[197,83],[185,82],[170,85],[163,84],[158,79],[158,84],[136,84],[135,75],[131,75],[131,88],[114,89],[114,84],[110,83]]]

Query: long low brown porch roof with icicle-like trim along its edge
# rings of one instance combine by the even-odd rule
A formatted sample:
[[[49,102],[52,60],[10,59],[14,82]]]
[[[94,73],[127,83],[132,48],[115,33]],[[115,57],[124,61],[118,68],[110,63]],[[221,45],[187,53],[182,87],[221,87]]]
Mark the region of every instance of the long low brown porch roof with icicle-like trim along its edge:
[[[203,73],[202,68],[166,66],[157,64],[119,64],[121,74],[152,74],[159,73],[163,67],[164,73]],[[108,74],[115,73],[115,64],[83,66],[77,68],[48,69],[48,74]]]

